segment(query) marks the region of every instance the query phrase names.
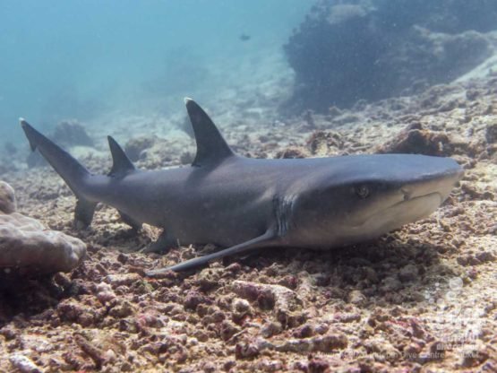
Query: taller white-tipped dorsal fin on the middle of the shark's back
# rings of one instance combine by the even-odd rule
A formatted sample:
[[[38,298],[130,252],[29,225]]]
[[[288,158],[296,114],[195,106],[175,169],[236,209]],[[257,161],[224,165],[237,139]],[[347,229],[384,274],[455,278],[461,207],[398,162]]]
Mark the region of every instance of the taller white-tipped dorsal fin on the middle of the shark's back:
[[[184,99],[184,104],[192,122],[197,143],[197,155],[192,166],[216,164],[234,155],[235,153],[206,112],[192,99]]]

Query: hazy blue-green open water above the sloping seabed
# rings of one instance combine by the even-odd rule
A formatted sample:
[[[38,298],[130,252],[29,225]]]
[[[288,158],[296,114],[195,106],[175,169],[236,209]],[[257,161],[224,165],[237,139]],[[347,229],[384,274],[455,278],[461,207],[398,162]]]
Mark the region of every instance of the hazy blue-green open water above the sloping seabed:
[[[212,65],[219,66],[216,84],[229,84],[223,66],[280,50],[311,4],[2,0],[0,136],[21,139],[18,117],[43,128],[116,108],[140,114],[176,96],[181,106],[200,88],[214,95],[220,86],[204,86]]]

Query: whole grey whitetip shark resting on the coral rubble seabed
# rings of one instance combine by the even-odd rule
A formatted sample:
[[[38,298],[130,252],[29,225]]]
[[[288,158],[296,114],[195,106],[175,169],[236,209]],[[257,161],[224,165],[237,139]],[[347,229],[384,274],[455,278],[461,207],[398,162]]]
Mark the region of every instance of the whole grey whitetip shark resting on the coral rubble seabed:
[[[134,169],[108,138],[114,165],[92,175],[26,121],[30,140],[78,198],[74,221],[90,224],[97,203],[133,228],[164,232],[144,251],[212,243],[224,250],[148,272],[184,271],[261,247],[330,249],[374,239],[433,213],[462,169],[450,158],[411,154],[258,160],[236,155],[210,117],[185,99],[197,155],[191,167]]]

